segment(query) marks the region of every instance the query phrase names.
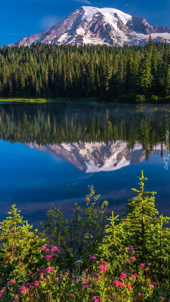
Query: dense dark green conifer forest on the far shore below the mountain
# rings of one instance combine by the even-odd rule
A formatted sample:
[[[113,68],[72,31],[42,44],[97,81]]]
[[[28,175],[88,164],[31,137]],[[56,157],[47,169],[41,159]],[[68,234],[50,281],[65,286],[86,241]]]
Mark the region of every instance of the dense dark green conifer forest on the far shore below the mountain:
[[[170,95],[170,45],[57,45],[0,49],[0,96]],[[169,98],[167,98],[167,101]]]

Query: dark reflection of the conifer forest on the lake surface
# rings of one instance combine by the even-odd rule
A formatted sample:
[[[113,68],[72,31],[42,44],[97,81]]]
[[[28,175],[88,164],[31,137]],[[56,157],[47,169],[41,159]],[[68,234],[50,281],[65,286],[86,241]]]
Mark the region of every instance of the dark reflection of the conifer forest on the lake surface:
[[[147,159],[159,143],[163,153],[169,112],[169,105],[149,104],[0,104],[0,139],[43,145],[123,140],[129,149],[138,141]]]

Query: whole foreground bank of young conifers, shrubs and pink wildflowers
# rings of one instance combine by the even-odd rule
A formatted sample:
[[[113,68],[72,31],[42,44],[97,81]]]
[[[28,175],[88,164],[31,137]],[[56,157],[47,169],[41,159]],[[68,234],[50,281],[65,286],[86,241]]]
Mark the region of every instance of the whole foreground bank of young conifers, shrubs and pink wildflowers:
[[[158,217],[143,171],[138,179],[120,220],[93,186],[82,216],[78,204],[70,220],[51,208],[42,233],[13,205],[0,223],[1,301],[169,302],[170,217]]]

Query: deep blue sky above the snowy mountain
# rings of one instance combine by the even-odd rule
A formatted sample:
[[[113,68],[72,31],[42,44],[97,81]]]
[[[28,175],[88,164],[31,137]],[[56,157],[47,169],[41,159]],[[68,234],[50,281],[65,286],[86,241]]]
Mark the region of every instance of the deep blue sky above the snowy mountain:
[[[1,2],[0,46],[39,33],[83,5],[117,8],[170,28],[170,0],[8,0]]]

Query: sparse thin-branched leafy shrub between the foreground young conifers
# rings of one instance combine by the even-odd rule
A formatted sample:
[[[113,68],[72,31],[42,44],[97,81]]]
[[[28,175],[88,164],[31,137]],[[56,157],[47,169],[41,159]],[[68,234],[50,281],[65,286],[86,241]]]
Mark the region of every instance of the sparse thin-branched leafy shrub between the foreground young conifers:
[[[95,195],[93,186],[89,186],[89,189],[90,194],[86,196],[87,208],[83,217],[80,215],[80,205],[75,203],[73,220],[64,220],[63,212],[55,207],[48,210],[43,224],[45,231],[52,238],[50,242],[60,246],[67,257],[71,256],[72,262],[80,256],[94,253],[104,233],[108,202],[103,201],[100,205],[98,201],[100,194]]]

